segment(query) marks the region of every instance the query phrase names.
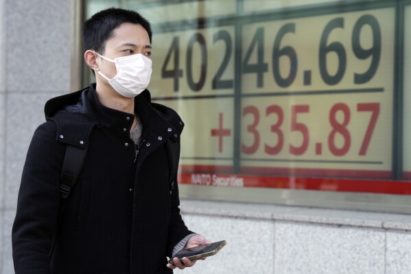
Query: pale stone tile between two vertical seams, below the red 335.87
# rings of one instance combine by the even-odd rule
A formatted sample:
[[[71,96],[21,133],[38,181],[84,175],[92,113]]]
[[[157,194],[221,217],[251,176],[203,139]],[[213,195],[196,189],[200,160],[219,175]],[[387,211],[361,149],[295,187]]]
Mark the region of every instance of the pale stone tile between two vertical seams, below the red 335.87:
[[[382,229],[295,222],[275,227],[276,274],[384,274]]]

